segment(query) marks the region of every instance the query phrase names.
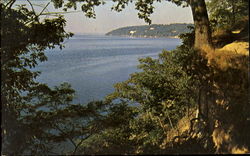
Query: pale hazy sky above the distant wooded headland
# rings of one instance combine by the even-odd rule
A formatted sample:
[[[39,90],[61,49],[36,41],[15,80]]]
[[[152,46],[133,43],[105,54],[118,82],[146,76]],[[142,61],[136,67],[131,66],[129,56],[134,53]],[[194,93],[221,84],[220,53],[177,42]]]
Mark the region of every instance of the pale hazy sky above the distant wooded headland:
[[[48,0],[33,0],[32,4],[48,3]],[[78,12],[64,14],[66,23],[66,31],[75,34],[105,34],[111,30],[135,25],[146,25],[143,19],[137,16],[138,11],[135,9],[134,3],[130,3],[122,12],[111,11],[114,4],[110,0],[105,1],[104,6],[95,8],[96,18],[89,19],[85,17],[84,13],[80,11],[78,5]],[[26,3],[24,0],[19,0],[17,4]],[[26,3],[28,5],[28,3]],[[178,7],[171,2],[163,1],[154,4],[155,10],[151,15],[152,24],[171,24],[171,23],[193,23],[192,13],[190,7]],[[36,7],[40,10],[41,7]],[[54,9],[53,5],[48,6],[48,11],[61,11]],[[69,10],[73,11],[73,10]]]

